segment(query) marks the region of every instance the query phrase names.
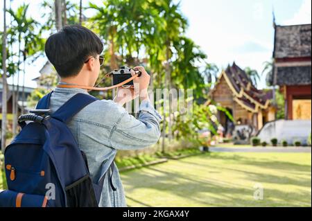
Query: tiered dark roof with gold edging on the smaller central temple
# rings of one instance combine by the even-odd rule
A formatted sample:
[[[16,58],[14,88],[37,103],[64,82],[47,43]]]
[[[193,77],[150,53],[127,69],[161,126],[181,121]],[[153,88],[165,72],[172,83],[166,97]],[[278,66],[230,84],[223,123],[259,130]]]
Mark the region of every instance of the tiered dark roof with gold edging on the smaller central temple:
[[[270,94],[254,87],[245,71],[237,66],[235,62],[232,66],[227,67],[225,71],[222,71],[219,81],[222,77],[225,78],[227,85],[232,90],[236,103],[244,109],[250,112],[258,112],[259,108],[266,109],[268,107]],[[211,91],[211,93],[213,92],[214,90]]]

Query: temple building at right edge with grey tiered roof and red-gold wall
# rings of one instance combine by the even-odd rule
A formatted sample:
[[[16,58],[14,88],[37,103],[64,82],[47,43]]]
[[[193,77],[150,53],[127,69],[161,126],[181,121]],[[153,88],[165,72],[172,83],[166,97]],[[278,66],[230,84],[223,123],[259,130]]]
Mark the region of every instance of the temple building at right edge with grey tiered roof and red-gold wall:
[[[285,118],[311,120],[311,24],[275,26],[273,84],[285,99]]]

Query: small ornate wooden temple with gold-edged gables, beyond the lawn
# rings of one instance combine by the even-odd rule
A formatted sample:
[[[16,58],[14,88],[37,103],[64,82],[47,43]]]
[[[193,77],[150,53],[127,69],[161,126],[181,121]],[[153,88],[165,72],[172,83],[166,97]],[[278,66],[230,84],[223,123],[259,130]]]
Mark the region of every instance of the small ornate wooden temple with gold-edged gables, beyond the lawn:
[[[234,124],[250,125],[257,131],[264,123],[275,120],[276,108],[270,103],[272,91],[261,91],[254,87],[245,71],[235,62],[220,73],[210,96],[234,118],[235,122],[232,123],[225,112],[218,112],[218,120],[225,134],[232,135],[229,127]]]

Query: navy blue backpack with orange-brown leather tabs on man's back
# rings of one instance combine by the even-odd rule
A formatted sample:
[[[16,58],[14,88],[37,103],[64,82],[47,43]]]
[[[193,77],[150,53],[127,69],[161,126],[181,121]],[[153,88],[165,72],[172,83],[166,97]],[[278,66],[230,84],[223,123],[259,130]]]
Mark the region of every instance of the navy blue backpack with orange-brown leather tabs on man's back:
[[[52,93],[19,116],[21,132],[4,152],[8,190],[0,192],[0,206],[98,206],[105,175],[92,182],[87,158],[66,125],[97,99],[78,93],[50,115]]]

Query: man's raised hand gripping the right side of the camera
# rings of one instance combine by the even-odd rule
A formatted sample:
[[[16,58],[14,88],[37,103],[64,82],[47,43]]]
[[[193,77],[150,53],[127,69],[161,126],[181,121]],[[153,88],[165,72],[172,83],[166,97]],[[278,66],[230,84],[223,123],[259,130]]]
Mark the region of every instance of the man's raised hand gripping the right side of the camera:
[[[141,100],[149,100],[148,98],[148,85],[150,85],[150,75],[146,72],[144,67],[137,66],[134,69],[141,71],[141,76],[133,79],[133,85],[135,87],[135,94],[139,91]],[[132,76],[135,75],[135,71],[131,70]]]

